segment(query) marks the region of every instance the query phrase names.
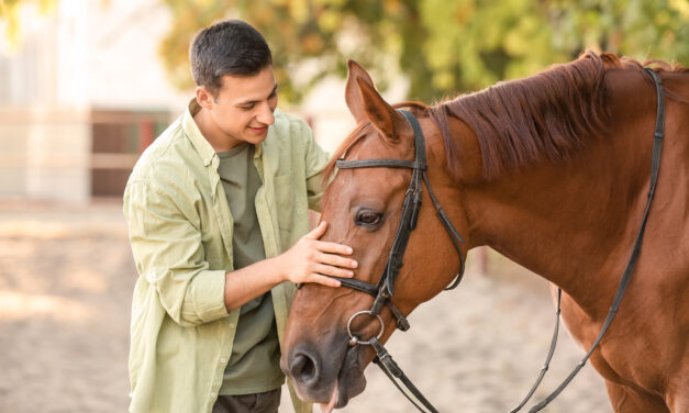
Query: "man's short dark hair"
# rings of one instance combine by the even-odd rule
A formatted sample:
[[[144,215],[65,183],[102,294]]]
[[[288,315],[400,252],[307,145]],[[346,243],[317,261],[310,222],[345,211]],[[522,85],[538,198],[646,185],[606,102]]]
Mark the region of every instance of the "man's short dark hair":
[[[253,76],[273,64],[264,36],[241,20],[224,20],[197,33],[189,49],[191,76],[212,94],[222,88],[222,77]]]

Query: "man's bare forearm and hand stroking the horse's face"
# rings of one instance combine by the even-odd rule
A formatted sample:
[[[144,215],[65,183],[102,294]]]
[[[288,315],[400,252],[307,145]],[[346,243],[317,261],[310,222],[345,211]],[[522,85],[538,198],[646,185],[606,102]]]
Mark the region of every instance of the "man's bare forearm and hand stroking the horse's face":
[[[319,241],[326,227],[327,224],[321,222],[284,254],[227,272],[225,275],[227,311],[242,306],[284,281],[340,287],[340,281],[326,276],[352,277],[354,275],[352,269],[357,267],[357,263],[345,257],[352,255],[352,248]]]

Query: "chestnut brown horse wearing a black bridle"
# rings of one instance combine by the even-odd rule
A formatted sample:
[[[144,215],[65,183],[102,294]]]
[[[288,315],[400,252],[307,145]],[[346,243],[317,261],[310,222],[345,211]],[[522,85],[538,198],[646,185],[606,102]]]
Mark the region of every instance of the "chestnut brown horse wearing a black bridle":
[[[590,359],[615,412],[689,412],[689,70],[656,64],[667,99],[655,199],[626,294]],[[355,63],[345,99],[358,126],[335,158],[414,159],[410,124]],[[419,119],[427,176],[466,239],[462,254],[488,245],[562,288],[562,317],[588,349],[642,221],[656,104],[640,64],[587,53],[434,107],[396,107]],[[408,169],[342,169],[329,186],[324,238],[354,247],[356,279],[378,282],[410,179]],[[404,314],[441,292],[460,265],[426,190],[422,205],[392,298]],[[371,303],[344,287],[297,292],[281,362],[302,399],[341,408],[364,391],[374,351],[348,345],[347,322]],[[381,316],[385,342],[394,322],[388,308]],[[380,326],[357,317],[354,328],[370,337]]]

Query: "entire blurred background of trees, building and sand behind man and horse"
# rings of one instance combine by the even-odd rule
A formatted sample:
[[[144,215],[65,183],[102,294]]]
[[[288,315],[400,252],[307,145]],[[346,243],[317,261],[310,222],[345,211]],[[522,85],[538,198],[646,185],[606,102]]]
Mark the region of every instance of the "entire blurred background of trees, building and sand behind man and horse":
[[[193,34],[224,18],[264,33],[280,107],[329,150],[353,127],[348,58],[389,101],[427,104],[587,48],[689,63],[687,0],[0,0],[0,412],[126,411],[136,272],[122,191],[192,96]],[[541,368],[554,306],[496,253],[469,263],[390,349],[441,411],[502,412]],[[560,334],[546,389],[584,355]],[[367,376],[345,412],[411,411]],[[546,411],[611,408],[587,367]]]

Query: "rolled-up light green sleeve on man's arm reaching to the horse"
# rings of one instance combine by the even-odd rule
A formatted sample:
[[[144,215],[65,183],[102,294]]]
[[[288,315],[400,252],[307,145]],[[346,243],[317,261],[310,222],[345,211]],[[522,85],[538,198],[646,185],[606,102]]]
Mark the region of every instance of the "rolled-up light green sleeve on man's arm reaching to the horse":
[[[182,212],[185,200],[174,198],[145,181],[130,182],[124,215],[140,276],[175,322],[195,326],[227,315],[225,271],[209,269],[198,216],[190,216],[193,209]]]

